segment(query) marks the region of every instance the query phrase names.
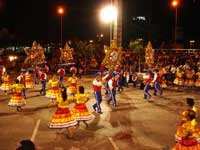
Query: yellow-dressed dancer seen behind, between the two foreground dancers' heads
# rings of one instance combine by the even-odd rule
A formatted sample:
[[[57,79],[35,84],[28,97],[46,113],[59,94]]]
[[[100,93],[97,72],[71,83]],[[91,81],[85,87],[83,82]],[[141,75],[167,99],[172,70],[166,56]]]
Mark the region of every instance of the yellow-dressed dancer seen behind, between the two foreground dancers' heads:
[[[78,78],[76,77],[77,69],[76,67],[71,67],[70,72],[72,73],[72,76],[68,78],[68,82],[70,82],[70,88],[72,89],[73,94],[77,93],[77,81]]]

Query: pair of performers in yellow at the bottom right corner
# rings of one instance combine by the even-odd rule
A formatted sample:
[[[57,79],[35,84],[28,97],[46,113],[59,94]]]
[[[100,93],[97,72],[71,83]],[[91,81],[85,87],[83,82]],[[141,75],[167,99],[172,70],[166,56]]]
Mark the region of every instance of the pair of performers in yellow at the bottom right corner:
[[[193,98],[186,99],[186,107],[175,134],[176,144],[172,150],[199,150],[200,128],[197,123],[197,108]]]

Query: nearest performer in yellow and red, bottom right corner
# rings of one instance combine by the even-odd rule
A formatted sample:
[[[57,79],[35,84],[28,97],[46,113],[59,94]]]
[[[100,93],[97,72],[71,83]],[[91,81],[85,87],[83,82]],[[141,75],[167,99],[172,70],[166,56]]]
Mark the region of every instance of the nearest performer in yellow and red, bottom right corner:
[[[176,145],[172,150],[199,150],[200,149],[200,129],[194,120],[195,112],[187,110],[185,122],[180,124],[175,134]]]

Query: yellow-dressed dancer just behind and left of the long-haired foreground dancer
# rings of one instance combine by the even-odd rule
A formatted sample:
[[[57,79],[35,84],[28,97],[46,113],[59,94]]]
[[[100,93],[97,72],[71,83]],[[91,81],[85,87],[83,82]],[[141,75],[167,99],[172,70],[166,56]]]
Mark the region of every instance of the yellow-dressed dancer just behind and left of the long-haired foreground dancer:
[[[46,97],[52,99],[52,102],[60,96],[59,81],[56,75],[53,75],[52,79],[48,82],[49,89],[47,90]]]

